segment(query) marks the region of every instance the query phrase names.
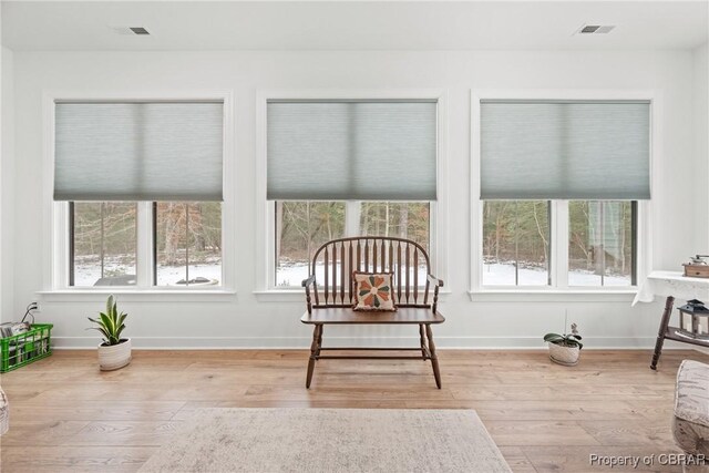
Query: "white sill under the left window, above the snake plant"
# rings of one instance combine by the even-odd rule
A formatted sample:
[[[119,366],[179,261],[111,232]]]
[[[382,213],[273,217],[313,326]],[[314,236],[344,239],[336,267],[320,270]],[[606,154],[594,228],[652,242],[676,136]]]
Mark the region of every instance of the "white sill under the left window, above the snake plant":
[[[58,289],[35,292],[45,302],[94,302],[105,301],[110,295],[119,296],[123,302],[206,302],[234,301],[236,291],[218,290],[140,290],[109,289]]]

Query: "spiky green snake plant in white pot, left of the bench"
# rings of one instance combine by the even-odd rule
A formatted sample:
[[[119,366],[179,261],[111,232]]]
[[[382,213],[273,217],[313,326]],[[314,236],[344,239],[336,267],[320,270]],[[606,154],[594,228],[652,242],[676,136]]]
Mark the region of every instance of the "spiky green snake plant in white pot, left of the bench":
[[[116,306],[113,296],[109,296],[106,311],[100,312],[97,319],[89,317],[97,327],[86,330],[99,330],[103,336],[103,343],[99,346],[99,367],[102,371],[117,370],[131,362],[131,339],[121,338],[127,313],[119,312]]]

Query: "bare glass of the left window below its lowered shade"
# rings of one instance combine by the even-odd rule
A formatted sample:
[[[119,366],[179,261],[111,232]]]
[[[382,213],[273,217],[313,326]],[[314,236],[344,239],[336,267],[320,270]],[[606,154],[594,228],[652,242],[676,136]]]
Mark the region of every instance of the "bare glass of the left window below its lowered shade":
[[[222,204],[147,203],[153,228],[152,285],[205,287],[222,284]],[[69,286],[136,286],[138,206],[143,203],[72,202]]]

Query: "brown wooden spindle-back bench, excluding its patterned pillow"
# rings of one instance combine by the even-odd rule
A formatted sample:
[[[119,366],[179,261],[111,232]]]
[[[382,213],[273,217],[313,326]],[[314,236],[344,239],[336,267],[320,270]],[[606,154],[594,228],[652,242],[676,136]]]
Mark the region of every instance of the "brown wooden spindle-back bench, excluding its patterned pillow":
[[[425,270],[422,275],[419,271]],[[354,311],[354,282],[352,271],[393,273],[393,298],[395,312]],[[431,286],[433,297],[430,297]],[[306,388],[310,388],[317,360],[383,359],[431,360],[435,384],[441,389],[441,372],[433,343],[431,326],[442,323],[445,318],[438,312],[439,288],[443,281],[431,275],[431,261],[425,249],[404,238],[351,237],[339,238],[322,245],[315,253],[310,276],[302,281],[308,310],[300,321],[310,323],[312,345]],[[432,299],[432,300],[431,300]],[[415,348],[325,348],[322,331],[327,325],[390,323],[419,327],[420,347]],[[357,350],[413,350],[420,356],[352,356],[320,354],[322,351]]]

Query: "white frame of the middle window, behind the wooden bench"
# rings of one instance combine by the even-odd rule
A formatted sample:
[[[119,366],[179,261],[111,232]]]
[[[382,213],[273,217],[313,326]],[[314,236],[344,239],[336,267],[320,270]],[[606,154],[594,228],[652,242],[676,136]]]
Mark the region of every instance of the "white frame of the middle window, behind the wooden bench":
[[[256,297],[263,301],[295,301],[302,299],[302,289],[299,287],[279,288],[276,281],[276,255],[274,241],[275,205],[266,198],[267,187],[267,102],[269,100],[435,100],[436,123],[436,199],[430,200],[430,249],[431,270],[434,276],[445,280],[448,276],[448,198],[449,192],[444,179],[448,176],[448,111],[446,91],[444,90],[260,90],[256,94]],[[361,200],[346,200],[346,234],[353,236],[359,233],[359,215]],[[374,200],[380,202],[380,200]],[[413,202],[413,200],[412,200]],[[415,200],[420,202],[420,200]],[[351,233],[350,233],[351,232]]]

